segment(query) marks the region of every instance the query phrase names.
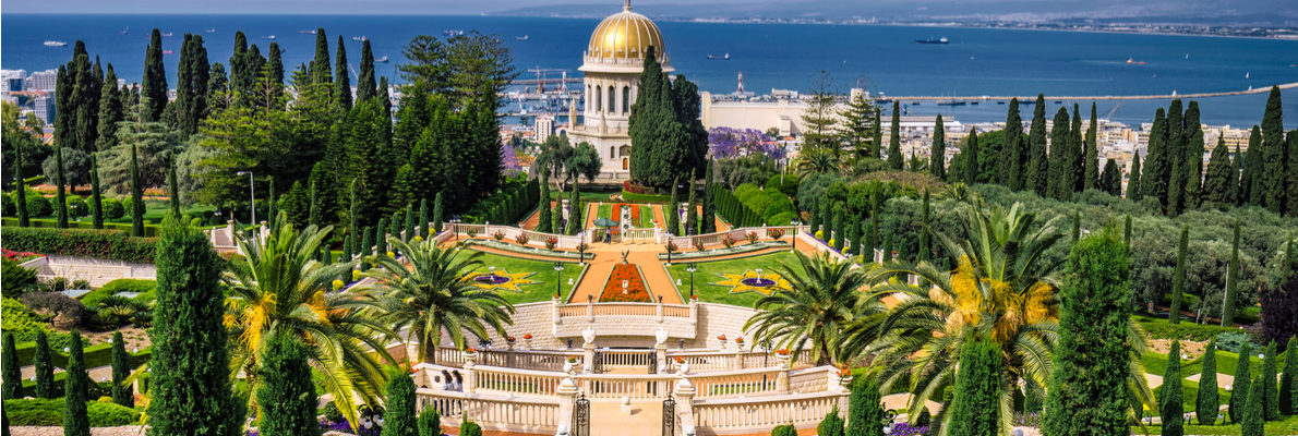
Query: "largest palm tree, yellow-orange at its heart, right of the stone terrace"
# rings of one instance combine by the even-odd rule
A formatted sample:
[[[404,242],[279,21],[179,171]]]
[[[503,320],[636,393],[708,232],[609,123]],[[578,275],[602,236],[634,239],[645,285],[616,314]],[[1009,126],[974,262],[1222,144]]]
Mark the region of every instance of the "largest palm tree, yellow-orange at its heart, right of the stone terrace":
[[[883,365],[884,391],[905,383],[914,415],[925,402],[940,401],[953,385],[961,346],[966,337],[977,336],[967,333],[986,335],[1005,357],[1001,424],[1007,430],[1012,393],[1020,387],[1042,392],[1053,366],[1064,260],[1050,260],[1045,252],[1063,237],[1058,219],[1033,230],[1036,217],[1020,204],[1005,210],[977,202],[963,222],[967,237],[935,232],[955,270],[944,271],[929,262],[888,262],[876,269],[874,280],[881,284],[874,293],[897,296],[901,302],[875,326],[879,336],[846,336],[840,348],[849,356],[874,353]],[[885,280],[903,275],[915,275],[924,284]],[[1138,327],[1128,333],[1134,348],[1144,348]],[[1144,367],[1138,356],[1133,361],[1129,388],[1133,398],[1149,404]]]

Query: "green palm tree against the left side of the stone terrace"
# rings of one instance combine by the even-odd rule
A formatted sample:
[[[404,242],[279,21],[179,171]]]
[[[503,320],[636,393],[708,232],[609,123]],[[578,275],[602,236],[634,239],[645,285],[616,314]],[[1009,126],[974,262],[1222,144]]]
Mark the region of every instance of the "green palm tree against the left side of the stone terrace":
[[[406,340],[417,339],[421,362],[434,357],[441,332],[456,348],[465,348],[465,331],[487,337],[488,326],[505,333],[514,306],[495,291],[483,289],[466,275],[483,266],[482,252],[441,249],[435,237],[402,241],[388,237],[401,258],[379,256],[375,269],[365,272],[374,283],[362,288],[374,298],[392,328],[409,328]]]

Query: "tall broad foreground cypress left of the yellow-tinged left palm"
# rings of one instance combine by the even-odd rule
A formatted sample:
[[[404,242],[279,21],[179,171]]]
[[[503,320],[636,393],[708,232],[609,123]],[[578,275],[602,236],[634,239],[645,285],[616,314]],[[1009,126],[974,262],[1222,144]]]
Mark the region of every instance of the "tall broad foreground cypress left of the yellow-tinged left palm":
[[[201,231],[179,219],[164,221],[154,258],[152,435],[238,435],[244,417],[230,389],[222,261]]]

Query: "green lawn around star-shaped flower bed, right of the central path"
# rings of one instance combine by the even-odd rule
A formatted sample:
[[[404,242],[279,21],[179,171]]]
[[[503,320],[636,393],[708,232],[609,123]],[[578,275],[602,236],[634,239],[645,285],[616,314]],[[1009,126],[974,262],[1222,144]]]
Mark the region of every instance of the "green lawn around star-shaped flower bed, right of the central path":
[[[780,266],[781,262],[798,274],[802,272],[802,267],[797,263],[797,256],[789,252],[726,261],[696,262],[694,265],[697,265],[698,270],[694,271],[694,295],[698,296],[700,301],[750,308],[763,295],[758,292],[731,293],[732,287],[714,283],[726,280],[722,274],[744,274],[744,271],[757,269],[761,269],[762,274],[779,272],[784,270]],[[684,298],[689,298],[689,271],[685,270],[687,265],[684,262],[674,262],[667,269],[672,280],[680,280],[680,295]]]

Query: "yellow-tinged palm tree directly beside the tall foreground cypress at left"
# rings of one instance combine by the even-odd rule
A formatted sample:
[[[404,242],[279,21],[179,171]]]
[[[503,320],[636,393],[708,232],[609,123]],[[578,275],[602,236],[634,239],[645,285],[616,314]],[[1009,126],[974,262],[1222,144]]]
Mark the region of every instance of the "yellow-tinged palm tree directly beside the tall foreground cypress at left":
[[[226,327],[230,328],[231,376],[243,374],[249,392],[258,384],[258,357],[276,335],[289,335],[310,348],[312,366],[347,417],[357,423],[354,396],[370,404],[382,394],[387,337],[396,336],[365,309],[363,298],[330,293],[330,283],[356,262],[324,265],[317,249],[332,227],[308,226],[301,232],[280,212],[265,237],[240,235],[244,256],[230,262],[222,280],[230,287]],[[249,394],[251,405],[256,398]]]

